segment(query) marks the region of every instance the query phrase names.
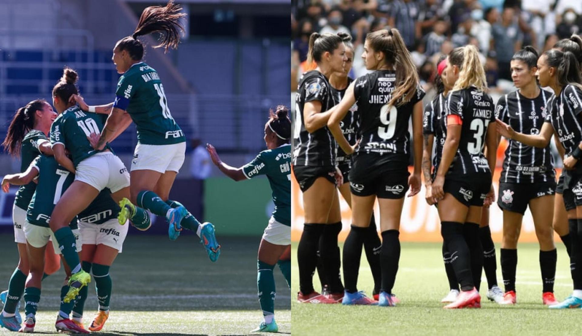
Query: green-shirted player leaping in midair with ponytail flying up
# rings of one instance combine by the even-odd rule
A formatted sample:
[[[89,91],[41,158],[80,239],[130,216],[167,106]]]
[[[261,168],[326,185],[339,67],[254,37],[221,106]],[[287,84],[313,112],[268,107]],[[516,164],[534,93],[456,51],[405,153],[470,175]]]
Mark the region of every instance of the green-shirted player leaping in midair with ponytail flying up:
[[[161,33],[162,41],[154,48],[164,47],[166,51],[177,48],[180,30],[183,30],[179,20],[186,16],[180,13],[181,9],[173,0],[164,7],[145,8],[133,34],[115,44],[112,60],[118,73],[123,74],[119,78],[115,102],[88,106],[80,96],[74,98],[81,109],[109,114],[101,135],[92,135],[91,144],[95,149],[104,149],[120,128],[125,129],[126,120],[136,123],[137,146],[131,167],[131,202],[124,201],[121,205],[122,217],[126,217],[127,212],[135,213],[134,204],[137,204],[169,221],[171,240],[178,238],[182,227],[192,230],[201,238],[210,260],[215,262],[220,255],[220,246],[215,238],[214,226],[211,223],[200,224],[179,202],[168,199],[176,174],[184,162],[186,138],[172,118],[158,73],[142,61],[144,46],[137,40],[142,35]]]

